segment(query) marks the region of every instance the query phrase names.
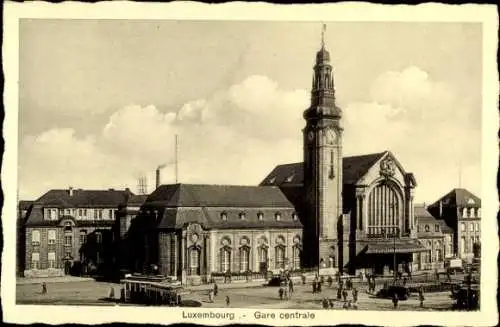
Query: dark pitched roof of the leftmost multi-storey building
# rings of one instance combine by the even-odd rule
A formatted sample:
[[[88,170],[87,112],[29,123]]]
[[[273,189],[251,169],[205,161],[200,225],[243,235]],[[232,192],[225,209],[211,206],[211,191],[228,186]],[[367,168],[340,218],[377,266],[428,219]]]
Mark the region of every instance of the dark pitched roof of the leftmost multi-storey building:
[[[129,190],[50,190],[34,203],[56,208],[117,207],[133,195]]]

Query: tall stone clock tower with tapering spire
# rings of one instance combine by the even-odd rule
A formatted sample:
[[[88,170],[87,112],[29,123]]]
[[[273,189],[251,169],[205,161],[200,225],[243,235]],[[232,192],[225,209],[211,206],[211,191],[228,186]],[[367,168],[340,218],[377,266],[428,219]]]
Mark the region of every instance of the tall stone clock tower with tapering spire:
[[[308,221],[304,242],[309,243],[309,265],[338,267],[339,237],[342,219],[342,111],[335,104],[333,69],[330,53],[316,54],[311,105],[304,112],[304,188]],[[340,261],[342,262],[342,261]]]

